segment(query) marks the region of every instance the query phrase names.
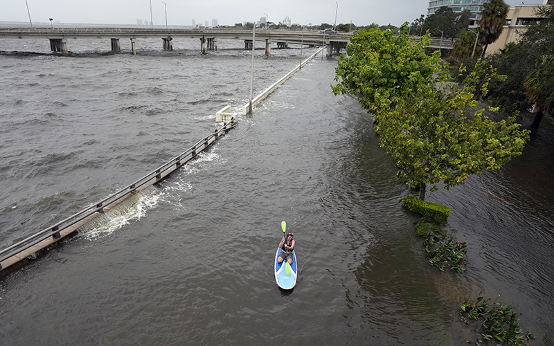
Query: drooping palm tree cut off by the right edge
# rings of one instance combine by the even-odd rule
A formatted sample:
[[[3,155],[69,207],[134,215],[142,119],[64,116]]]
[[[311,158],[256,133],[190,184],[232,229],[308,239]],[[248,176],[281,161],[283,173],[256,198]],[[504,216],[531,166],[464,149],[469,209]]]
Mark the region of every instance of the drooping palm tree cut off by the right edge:
[[[531,129],[541,123],[543,111],[550,113],[554,107],[554,55],[540,55],[535,67],[524,81],[527,98],[535,102],[537,115]]]

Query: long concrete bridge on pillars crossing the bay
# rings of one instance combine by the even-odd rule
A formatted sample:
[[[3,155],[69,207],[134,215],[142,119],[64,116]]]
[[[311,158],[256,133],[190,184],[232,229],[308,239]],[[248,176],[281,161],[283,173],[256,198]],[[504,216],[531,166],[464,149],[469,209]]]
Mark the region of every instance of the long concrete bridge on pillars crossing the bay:
[[[333,48],[340,50],[342,45],[350,42],[350,33],[323,34],[314,30],[256,30],[256,41],[265,42],[265,55],[271,56],[271,43],[276,42],[277,48],[287,48],[289,44],[326,46],[327,55],[331,56]],[[213,29],[164,29],[164,28],[0,28],[0,38],[26,39],[44,38],[50,40],[51,51],[54,53],[67,53],[67,39],[80,38],[105,38],[111,40],[111,51],[121,51],[120,39],[129,39],[133,55],[136,55],[136,39],[159,37],[162,39],[164,51],[172,51],[172,40],[199,39],[200,52],[205,54],[208,50],[217,50],[217,39],[244,40],[244,48],[251,49],[253,42],[252,29],[213,28]],[[413,36],[413,42],[418,42],[420,37]],[[452,49],[454,41],[433,37],[430,48]]]

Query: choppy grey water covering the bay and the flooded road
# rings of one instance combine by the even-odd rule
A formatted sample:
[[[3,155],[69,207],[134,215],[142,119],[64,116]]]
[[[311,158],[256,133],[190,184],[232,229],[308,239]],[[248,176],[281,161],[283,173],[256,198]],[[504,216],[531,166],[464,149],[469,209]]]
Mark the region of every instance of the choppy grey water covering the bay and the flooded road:
[[[0,44],[1,248],[151,172],[249,98],[239,41],[200,55],[197,40],[163,52],[143,39],[133,56],[69,40],[66,57],[47,40]],[[254,95],[301,53],[258,48]],[[373,118],[332,95],[336,64],[316,57],[136,203],[0,277],[1,344],[467,345],[478,334],[458,307],[481,291],[513,305],[531,345],[554,345],[553,129],[503,169],[428,192],[471,247],[466,273],[442,273]],[[272,267],[283,220],[292,291]]]

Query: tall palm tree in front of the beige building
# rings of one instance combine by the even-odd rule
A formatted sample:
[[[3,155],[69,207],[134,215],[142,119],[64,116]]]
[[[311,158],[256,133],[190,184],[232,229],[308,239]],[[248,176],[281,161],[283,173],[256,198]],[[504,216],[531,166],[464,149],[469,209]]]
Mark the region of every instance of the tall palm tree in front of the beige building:
[[[485,48],[483,48],[481,57],[485,56],[488,45],[500,37],[504,25],[506,25],[508,10],[510,10],[510,6],[504,0],[490,0],[488,3],[483,3],[481,19],[479,19],[481,28],[479,43],[484,44]]]

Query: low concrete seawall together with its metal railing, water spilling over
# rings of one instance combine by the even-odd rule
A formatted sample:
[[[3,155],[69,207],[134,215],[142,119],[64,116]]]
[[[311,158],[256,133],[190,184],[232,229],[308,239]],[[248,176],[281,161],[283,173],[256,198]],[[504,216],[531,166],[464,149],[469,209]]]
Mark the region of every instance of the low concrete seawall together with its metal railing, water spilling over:
[[[229,109],[230,111],[230,109]],[[226,134],[227,131],[233,129],[233,127],[238,125],[238,120],[235,117],[232,117],[229,122],[225,122],[221,129],[215,129],[213,134],[210,134],[202,139],[200,139],[195,145],[187,149],[185,152],[175,156],[167,163],[161,165],[156,170],[146,174],[141,179],[134,181],[133,183],[125,186],[111,194],[109,197],[98,201],[93,205],[84,208],[80,212],[63,219],[57,224],[44,228],[38,233],[13,244],[8,248],[5,248],[0,251],[0,271],[12,264],[15,264],[24,258],[33,255],[33,253],[42,250],[46,246],[57,242],[57,240],[62,237],[70,235],[80,226],[87,224],[92,219],[98,217],[105,210],[112,208],[121,201],[127,199],[129,194],[135,194],[136,192],[142,191],[145,188],[148,188],[150,185],[154,185],[159,181],[165,179],[177,168],[181,167],[191,159],[195,158],[199,152],[202,152],[204,149],[209,147],[217,138]],[[95,216],[96,215],[96,216]],[[45,242],[48,239],[48,242]]]

